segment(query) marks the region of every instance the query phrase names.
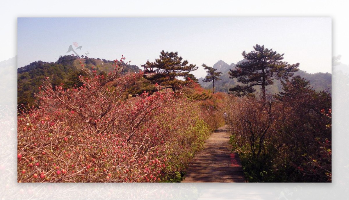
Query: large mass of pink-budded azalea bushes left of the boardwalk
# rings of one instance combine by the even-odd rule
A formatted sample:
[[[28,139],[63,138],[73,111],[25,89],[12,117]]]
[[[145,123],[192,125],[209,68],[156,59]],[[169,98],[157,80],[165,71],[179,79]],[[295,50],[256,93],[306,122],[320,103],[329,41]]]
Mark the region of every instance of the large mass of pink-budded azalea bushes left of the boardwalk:
[[[173,91],[125,97],[142,73],[120,76],[124,60],[84,69],[80,87],[43,80],[39,108],[18,114],[18,182],[159,182],[190,162],[209,134],[201,111]]]

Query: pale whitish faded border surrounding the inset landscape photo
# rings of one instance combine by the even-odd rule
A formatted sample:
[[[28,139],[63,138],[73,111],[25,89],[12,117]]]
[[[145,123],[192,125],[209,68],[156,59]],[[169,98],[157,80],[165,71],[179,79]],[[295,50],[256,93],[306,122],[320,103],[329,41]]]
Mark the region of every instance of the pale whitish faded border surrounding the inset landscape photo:
[[[0,8],[0,198],[1,199],[347,199],[348,157],[348,3],[346,1],[13,1]],[[17,17],[332,17],[332,183],[17,183]],[[299,32],[295,32],[299,34]],[[321,42],[321,41],[319,41]],[[20,45],[20,44],[19,44]],[[301,48],[301,47],[300,47]],[[329,55],[331,56],[331,55]]]

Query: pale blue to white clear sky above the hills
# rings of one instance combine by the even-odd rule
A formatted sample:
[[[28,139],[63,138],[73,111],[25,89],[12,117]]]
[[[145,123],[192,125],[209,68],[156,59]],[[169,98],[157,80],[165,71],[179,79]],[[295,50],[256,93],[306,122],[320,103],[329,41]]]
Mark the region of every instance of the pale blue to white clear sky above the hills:
[[[70,55],[119,59],[132,65],[153,62],[160,52],[177,51],[183,60],[201,66],[218,60],[231,64],[256,44],[284,53],[284,61],[299,62],[308,73],[331,73],[331,17],[128,17],[128,18],[18,18],[18,67]]]

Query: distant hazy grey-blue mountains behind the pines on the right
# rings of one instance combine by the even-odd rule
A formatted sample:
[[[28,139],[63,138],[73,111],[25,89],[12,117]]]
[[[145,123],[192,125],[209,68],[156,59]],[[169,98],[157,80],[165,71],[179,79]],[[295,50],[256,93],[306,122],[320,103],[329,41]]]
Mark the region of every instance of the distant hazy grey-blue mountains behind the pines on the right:
[[[222,60],[219,60],[216,62],[216,64],[213,65],[213,68],[217,69],[217,72],[222,72],[223,74],[220,76],[222,80],[215,82],[215,91],[220,92],[229,92],[229,88],[232,88],[236,84],[239,84],[236,79],[230,79],[229,78],[229,69],[234,69],[236,65],[241,64],[242,62],[245,62],[246,60],[240,60],[237,62],[237,64],[227,64]],[[305,71],[299,70],[298,72],[295,72],[294,75],[300,75],[301,77],[305,78],[306,80],[310,81],[310,87],[312,87],[316,91],[323,91],[328,90],[328,92],[331,94],[331,82],[332,82],[332,76],[330,73],[306,73]],[[212,82],[203,82],[204,78],[199,79],[199,83],[203,88],[210,89],[213,87]],[[280,91],[282,91],[282,85],[280,80],[274,80],[274,84],[272,86],[267,87],[267,92],[270,94],[277,94]],[[257,92],[259,92],[260,88],[255,88]]]

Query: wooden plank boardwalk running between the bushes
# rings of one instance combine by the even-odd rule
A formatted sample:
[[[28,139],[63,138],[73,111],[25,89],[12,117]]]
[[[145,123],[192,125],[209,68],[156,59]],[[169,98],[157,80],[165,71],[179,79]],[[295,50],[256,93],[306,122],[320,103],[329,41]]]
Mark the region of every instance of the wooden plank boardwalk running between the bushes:
[[[182,183],[246,182],[237,153],[231,153],[228,125],[213,132],[205,148],[194,156]]]

